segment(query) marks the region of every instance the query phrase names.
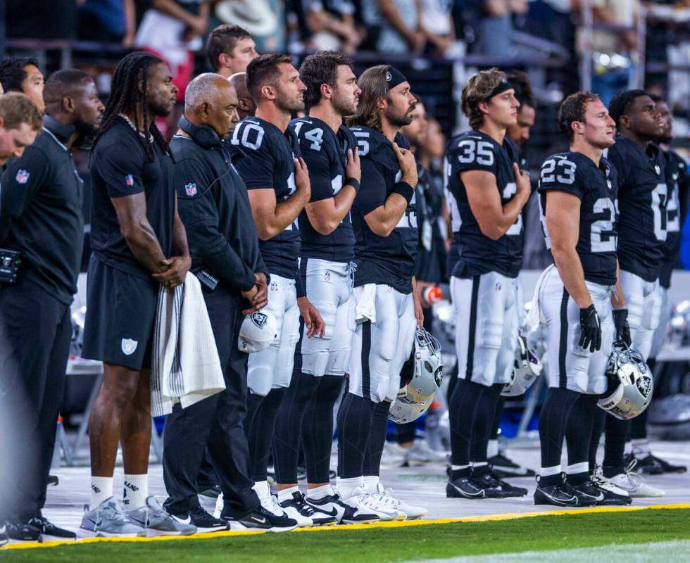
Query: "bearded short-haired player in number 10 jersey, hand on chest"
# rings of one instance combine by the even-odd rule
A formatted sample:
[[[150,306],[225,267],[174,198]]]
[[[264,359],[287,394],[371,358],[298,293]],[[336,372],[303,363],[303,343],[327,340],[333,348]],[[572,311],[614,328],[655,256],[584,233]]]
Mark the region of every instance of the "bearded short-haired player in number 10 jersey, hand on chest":
[[[287,127],[291,114],[304,108],[306,87],[289,56],[280,54],[253,59],[247,66],[246,86],[256,103],[256,115],[237,124],[232,144],[245,154],[236,166],[249,190],[259,248],[270,272],[265,310],[272,312],[278,326],[270,346],[249,356],[249,462],[261,504],[281,514],[268,485],[268,455],[278,407],[290,384],[300,313],[306,336],[323,336],[321,317],[299,283],[296,219],[311,197],[311,184],[297,139]],[[299,519],[298,523],[311,525],[309,519]]]

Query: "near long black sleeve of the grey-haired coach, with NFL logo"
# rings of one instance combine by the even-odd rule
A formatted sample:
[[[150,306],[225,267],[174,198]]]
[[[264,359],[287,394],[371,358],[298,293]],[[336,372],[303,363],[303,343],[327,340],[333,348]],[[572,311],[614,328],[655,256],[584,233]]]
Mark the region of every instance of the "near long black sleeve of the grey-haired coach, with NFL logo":
[[[227,286],[246,291],[256,283],[256,278],[218,229],[218,207],[214,192],[209,189],[213,179],[207,170],[203,163],[191,158],[175,164],[177,206],[187,229],[189,248]],[[196,184],[193,196],[187,192],[190,184]]]

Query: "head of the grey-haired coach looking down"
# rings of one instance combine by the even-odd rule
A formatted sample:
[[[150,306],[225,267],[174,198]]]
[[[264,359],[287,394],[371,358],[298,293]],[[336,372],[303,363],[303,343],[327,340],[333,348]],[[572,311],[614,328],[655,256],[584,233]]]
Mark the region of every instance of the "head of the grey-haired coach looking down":
[[[184,91],[184,117],[194,125],[208,125],[227,139],[239,121],[234,86],[215,72],[205,72]]]

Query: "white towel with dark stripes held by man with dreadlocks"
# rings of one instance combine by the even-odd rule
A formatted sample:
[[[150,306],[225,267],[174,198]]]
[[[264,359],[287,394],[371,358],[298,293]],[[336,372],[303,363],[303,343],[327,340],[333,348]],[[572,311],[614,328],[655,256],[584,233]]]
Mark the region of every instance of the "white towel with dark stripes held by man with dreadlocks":
[[[175,291],[158,291],[153,338],[151,414],[169,415],[225,389],[211,321],[196,276],[187,273]]]

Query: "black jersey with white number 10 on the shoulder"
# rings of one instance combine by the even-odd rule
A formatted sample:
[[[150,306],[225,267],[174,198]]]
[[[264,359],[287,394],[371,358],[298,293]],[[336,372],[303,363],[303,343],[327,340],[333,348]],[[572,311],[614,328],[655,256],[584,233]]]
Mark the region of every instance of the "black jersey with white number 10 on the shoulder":
[[[301,153],[290,129],[283,133],[263,119],[245,118],[235,126],[232,144],[244,153],[235,166],[247,189],[272,188],[277,203],[294,194],[297,186],[293,159]],[[299,241],[297,220],[272,239],[259,241],[261,256],[270,273],[298,279]]]

